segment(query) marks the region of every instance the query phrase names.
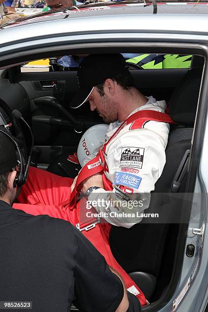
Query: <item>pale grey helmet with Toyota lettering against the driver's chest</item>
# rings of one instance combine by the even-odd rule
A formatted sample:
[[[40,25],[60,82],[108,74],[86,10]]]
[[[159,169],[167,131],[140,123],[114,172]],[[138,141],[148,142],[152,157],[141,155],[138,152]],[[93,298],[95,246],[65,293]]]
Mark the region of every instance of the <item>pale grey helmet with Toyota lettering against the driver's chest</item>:
[[[83,167],[84,159],[103,142],[108,131],[108,124],[96,124],[84,133],[77,148],[77,158]]]

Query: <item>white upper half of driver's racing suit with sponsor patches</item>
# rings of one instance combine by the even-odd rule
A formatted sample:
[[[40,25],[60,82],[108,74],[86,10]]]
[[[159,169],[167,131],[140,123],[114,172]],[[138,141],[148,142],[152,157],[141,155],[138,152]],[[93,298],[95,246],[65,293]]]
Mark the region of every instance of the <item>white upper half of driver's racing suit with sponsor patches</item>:
[[[164,113],[166,102],[150,97],[144,106],[129,116],[142,110]],[[120,124],[116,121],[109,125],[107,141]],[[113,191],[99,188],[88,197],[106,221],[116,226],[131,227],[142,220],[142,213],[149,206],[150,192],[154,190],[166,162],[168,134],[168,123],[147,121],[142,128],[130,130],[129,126],[123,127],[107,145],[104,173],[112,182]],[[86,158],[85,164],[96,154],[97,149]]]

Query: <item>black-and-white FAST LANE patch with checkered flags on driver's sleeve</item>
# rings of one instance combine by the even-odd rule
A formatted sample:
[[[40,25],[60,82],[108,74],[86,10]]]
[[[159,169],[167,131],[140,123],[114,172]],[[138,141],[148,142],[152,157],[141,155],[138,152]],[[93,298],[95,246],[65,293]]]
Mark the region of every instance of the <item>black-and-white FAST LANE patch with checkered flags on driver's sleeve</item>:
[[[142,168],[144,159],[144,148],[122,147],[120,167]]]

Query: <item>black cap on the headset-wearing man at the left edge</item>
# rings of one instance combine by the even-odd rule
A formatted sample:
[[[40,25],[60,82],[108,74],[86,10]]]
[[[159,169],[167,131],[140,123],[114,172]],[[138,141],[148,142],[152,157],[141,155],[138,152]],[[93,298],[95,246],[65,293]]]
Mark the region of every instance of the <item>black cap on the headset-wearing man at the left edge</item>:
[[[0,174],[10,171],[16,164],[14,143],[7,135],[0,133]]]

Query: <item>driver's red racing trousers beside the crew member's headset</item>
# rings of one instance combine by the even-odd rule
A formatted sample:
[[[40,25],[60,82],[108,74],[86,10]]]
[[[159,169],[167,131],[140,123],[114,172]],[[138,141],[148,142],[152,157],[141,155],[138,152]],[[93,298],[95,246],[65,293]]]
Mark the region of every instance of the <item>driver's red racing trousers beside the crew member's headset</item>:
[[[48,215],[74,224],[75,210],[72,212],[69,205],[63,205],[69,200],[72,183],[71,178],[30,167],[27,183],[23,185],[13,208],[34,216]]]

